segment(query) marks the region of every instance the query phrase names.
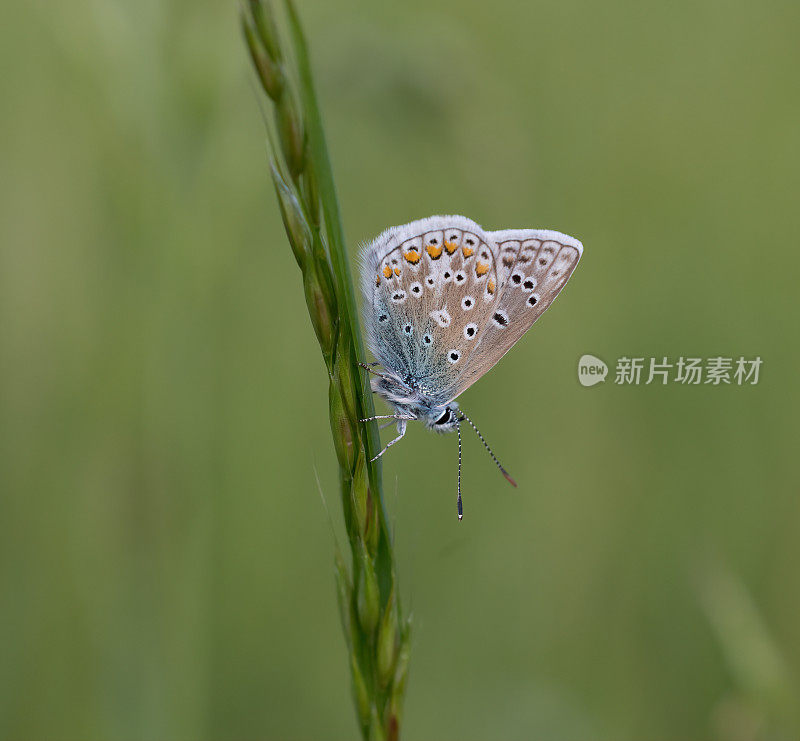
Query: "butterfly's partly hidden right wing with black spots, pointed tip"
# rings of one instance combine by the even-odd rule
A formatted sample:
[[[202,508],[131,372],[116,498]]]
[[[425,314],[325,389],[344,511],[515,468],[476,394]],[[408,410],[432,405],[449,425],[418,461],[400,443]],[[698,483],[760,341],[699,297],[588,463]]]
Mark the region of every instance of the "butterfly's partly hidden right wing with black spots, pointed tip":
[[[452,388],[456,398],[487,373],[564,288],[583,254],[573,237],[545,229],[487,232],[498,265],[499,301]]]

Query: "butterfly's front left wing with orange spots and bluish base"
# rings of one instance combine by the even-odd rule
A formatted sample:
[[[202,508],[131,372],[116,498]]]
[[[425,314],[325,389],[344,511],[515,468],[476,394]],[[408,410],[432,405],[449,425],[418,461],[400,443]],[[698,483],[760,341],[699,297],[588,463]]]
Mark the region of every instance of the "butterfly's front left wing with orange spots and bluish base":
[[[498,306],[495,243],[463,216],[393,227],[362,254],[367,343],[433,403],[453,398]]]

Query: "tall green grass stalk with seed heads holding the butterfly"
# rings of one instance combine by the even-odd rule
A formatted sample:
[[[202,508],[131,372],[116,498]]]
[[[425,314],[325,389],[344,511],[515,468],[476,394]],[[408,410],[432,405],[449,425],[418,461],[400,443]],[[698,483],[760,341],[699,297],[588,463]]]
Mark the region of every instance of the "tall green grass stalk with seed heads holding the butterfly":
[[[335,554],[342,626],[362,737],[396,741],[406,688],[410,622],[397,590],[379,463],[380,440],[339,202],[314,92],[306,38],[285,0],[289,54],[274,7],[249,0],[244,39],[274,113],[268,126],[271,174],[289,245],[300,268],[308,313],[328,372],[333,444],[350,559]]]

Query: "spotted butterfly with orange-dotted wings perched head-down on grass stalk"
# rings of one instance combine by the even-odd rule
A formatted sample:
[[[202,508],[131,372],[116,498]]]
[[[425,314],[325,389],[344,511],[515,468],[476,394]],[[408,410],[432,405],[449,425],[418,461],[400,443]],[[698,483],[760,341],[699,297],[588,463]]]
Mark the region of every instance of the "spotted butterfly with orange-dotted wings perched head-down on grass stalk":
[[[398,432],[373,460],[402,439],[411,420],[436,432],[455,430],[461,520],[460,424],[466,421],[516,486],[456,399],[553,303],[582,253],[577,239],[560,232],[488,232],[464,216],[412,221],[366,244],[364,325],[377,362],[362,366],[394,413],[362,421],[394,420]]]

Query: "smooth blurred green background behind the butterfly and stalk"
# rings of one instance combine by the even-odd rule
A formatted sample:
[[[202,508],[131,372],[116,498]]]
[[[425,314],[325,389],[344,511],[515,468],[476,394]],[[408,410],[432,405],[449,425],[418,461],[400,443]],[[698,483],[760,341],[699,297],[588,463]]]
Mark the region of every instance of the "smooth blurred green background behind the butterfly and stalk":
[[[586,248],[463,397],[519,489],[467,437],[458,525],[454,437],[386,458],[405,738],[800,737],[800,6],[298,5],[353,253],[442,212]],[[357,733],[236,9],[0,9],[3,739]],[[583,353],[764,366],[586,389]]]

